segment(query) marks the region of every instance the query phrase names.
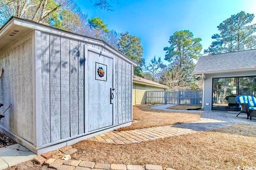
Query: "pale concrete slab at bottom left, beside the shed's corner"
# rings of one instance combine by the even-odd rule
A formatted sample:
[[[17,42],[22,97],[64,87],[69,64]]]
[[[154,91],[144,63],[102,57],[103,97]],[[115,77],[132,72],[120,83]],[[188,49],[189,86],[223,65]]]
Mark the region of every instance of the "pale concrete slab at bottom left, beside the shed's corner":
[[[8,167],[17,165],[36,157],[36,154],[22,147],[20,144],[13,144],[0,149],[0,167],[7,164]],[[6,167],[5,167],[6,168]],[[1,168],[0,168],[1,169]]]

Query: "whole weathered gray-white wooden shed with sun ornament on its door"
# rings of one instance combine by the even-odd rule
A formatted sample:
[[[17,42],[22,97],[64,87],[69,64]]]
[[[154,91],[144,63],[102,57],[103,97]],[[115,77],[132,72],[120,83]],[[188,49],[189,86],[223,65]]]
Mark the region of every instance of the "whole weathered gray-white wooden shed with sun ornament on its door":
[[[0,29],[0,103],[12,104],[0,129],[41,154],[128,126],[133,65],[99,39],[13,17]]]

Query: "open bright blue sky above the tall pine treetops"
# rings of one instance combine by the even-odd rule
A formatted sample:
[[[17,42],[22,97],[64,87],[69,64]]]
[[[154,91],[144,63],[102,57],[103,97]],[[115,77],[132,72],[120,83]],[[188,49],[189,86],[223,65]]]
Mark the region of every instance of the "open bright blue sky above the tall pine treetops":
[[[109,29],[140,37],[146,62],[154,55],[164,59],[163,48],[177,30],[189,29],[202,38],[205,49],[223,20],[240,11],[256,15],[256,0],[112,0],[114,11],[95,9],[90,0],[76,1],[89,18],[100,17]]]

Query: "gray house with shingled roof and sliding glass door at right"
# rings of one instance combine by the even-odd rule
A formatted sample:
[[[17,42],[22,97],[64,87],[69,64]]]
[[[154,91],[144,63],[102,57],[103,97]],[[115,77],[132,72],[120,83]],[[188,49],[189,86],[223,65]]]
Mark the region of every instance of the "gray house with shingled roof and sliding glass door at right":
[[[203,77],[205,110],[237,110],[235,96],[256,96],[256,50],[201,56],[194,74]]]

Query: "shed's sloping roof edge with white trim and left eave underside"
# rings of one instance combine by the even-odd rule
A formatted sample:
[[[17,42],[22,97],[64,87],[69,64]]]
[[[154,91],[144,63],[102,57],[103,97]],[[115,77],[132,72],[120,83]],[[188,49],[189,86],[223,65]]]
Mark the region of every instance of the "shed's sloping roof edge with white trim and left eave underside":
[[[16,29],[18,29],[20,32],[18,34],[16,34],[15,36],[10,36],[10,34],[12,34],[12,31],[16,30]],[[53,28],[53,27],[44,25],[42,23],[38,23],[38,22],[35,22],[35,21],[31,21],[31,20],[23,19],[23,18],[18,18],[18,17],[11,17],[5,23],[5,25],[0,28],[0,50],[5,48],[9,44],[13,43],[14,41],[16,41],[22,35],[25,35],[29,30],[33,30],[33,29],[43,31],[43,32],[46,32],[46,33],[51,33],[51,34],[56,34],[56,35],[60,35],[60,36],[70,37],[70,38],[73,38],[73,39],[79,39],[81,41],[85,41],[85,42],[89,42],[89,43],[92,43],[92,44],[94,43],[94,44],[100,45],[100,46],[106,48],[107,50],[109,50],[110,52],[112,52],[112,53],[114,53],[118,56],[121,56],[121,58],[123,58],[127,62],[130,62],[135,66],[138,65],[135,61],[128,58],[123,53],[121,53],[118,50],[116,50],[115,48],[111,47],[108,43],[106,43],[105,41],[102,41],[101,39],[71,33],[71,32],[66,31],[66,30]]]

